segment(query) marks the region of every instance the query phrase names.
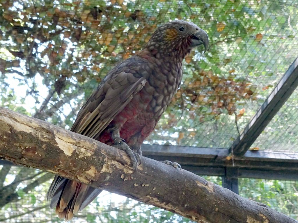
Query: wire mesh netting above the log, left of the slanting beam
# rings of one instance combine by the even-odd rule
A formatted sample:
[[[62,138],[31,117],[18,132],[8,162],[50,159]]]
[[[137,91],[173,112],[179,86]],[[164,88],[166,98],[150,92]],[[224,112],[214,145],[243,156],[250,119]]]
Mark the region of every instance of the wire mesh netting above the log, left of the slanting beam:
[[[1,66],[10,74],[1,79],[3,105],[27,114],[34,109],[35,117],[66,128],[107,71],[139,51],[157,26],[186,19],[205,29],[209,51],[187,56],[181,87],[150,143],[229,148],[297,57],[291,0],[8,1],[1,7]]]

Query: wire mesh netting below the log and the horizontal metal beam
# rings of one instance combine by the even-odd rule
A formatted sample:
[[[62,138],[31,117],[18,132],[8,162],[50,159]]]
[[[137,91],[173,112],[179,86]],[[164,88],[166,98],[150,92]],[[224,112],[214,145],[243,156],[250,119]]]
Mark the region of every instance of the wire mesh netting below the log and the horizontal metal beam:
[[[0,194],[0,222],[64,222],[49,209],[46,191],[52,174],[35,169],[2,166],[8,171]],[[221,185],[221,177],[203,176]],[[12,188],[14,185],[15,188]],[[10,186],[10,187],[6,187]],[[298,182],[239,178],[239,194],[298,219]],[[117,201],[117,202],[116,202]],[[192,222],[159,208],[103,192],[70,222]]]

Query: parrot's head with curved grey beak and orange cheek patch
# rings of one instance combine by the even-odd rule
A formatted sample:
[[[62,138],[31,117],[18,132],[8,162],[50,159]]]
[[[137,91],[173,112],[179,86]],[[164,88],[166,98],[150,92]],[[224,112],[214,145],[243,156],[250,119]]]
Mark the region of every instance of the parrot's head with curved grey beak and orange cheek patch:
[[[207,33],[192,22],[171,21],[160,26],[152,35],[145,48],[154,53],[184,56],[196,46],[209,46]]]

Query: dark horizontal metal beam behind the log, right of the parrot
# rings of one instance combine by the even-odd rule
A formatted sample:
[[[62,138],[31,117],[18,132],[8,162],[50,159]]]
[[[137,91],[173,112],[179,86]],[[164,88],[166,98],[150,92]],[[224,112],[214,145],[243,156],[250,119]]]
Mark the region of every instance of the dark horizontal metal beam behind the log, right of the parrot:
[[[171,160],[197,175],[298,180],[298,153],[247,151],[244,156],[229,158],[228,149],[142,145],[143,156],[155,160]],[[233,168],[235,172],[226,172]],[[233,176],[233,177],[232,177]]]

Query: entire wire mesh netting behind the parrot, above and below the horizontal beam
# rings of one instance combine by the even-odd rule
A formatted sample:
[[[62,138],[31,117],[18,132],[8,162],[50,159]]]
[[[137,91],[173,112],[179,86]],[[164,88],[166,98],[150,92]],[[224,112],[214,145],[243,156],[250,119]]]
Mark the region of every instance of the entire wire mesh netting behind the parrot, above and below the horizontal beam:
[[[185,58],[181,86],[146,143],[229,148],[298,56],[297,8],[296,0],[0,0],[0,105],[69,129],[112,67],[156,27],[184,19],[206,30],[209,50]],[[297,90],[252,147],[297,152],[296,98]],[[61,222],[45,200],[52,177],[2,166],[0,221]],[[296,182],[241,179],[239,191],[297,219]],[[113,196],[101,194],[72,222],[191,222]]]

